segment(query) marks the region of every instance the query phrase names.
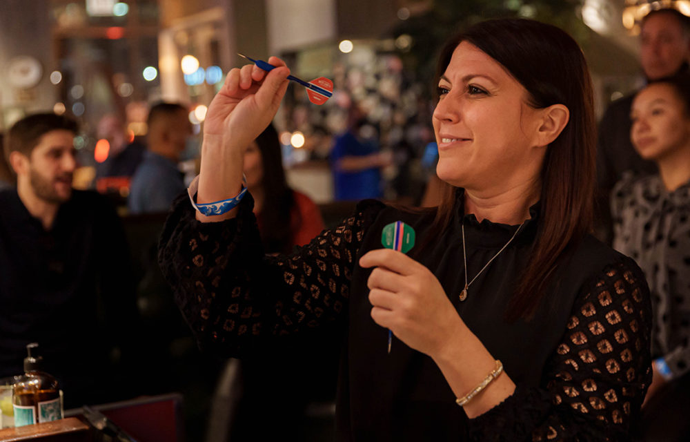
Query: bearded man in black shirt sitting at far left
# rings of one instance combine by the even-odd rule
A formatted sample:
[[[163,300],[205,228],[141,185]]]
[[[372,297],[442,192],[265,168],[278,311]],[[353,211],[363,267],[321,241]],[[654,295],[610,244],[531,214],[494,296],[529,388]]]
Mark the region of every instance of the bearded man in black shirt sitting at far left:
[[[77,123],[51,113],[8,131],[17,188],[0,192],[0,377],[37,342],[65,407],[125,398],[137,334],[126,238],[103,196],[72,189]]]

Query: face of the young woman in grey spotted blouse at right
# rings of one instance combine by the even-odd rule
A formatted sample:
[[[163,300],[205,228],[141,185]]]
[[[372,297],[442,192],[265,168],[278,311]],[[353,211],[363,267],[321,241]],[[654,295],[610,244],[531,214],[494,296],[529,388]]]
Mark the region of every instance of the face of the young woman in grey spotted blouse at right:
[[[669,84],[650,84],[640,91],[631,119],[631,141],[646,160],[664,160],[690,146],[690,117]]]

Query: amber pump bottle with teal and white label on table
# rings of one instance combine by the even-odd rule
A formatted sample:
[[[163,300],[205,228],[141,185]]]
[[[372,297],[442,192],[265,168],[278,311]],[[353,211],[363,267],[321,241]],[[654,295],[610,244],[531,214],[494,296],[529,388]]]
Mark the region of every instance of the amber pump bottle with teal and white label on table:
[[[24,375],[14,383],[15,427],[62,419],[57,379],[41,371],[43,358],[38,354],[38,346],[37,343],[26,346],[28,356],[24,359]]]

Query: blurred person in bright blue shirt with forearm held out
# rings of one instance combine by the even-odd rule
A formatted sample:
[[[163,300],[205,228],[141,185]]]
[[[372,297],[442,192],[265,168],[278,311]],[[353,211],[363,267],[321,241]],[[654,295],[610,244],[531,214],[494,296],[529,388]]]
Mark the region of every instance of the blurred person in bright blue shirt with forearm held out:
[[[348,113],[348,130],[335,138],[330,160],[334,200],[383,197],[381,169],[391,164],[391,155],[379,151],[377,131],[356,104]]]

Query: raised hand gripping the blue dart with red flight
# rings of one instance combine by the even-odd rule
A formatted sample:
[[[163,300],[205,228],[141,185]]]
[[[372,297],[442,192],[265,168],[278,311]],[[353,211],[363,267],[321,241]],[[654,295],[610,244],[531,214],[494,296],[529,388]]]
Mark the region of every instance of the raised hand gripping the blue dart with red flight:
[[[279,67],[268,73],[253,64],[230,70],[208,106],[205,140],[232,140],[234,146],[243,148],[264,131],[278,111],[290,74],[281,59],[270,57],[268,63]]]

